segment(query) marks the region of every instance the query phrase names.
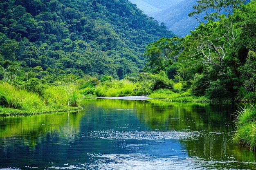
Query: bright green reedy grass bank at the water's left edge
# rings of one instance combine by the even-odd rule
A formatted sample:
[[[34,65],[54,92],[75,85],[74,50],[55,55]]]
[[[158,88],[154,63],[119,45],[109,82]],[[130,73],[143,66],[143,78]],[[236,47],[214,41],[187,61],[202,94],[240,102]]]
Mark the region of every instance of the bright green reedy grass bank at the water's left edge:
[[[0,116],[77,110],[81,106],[78,87],[74,85],[49,86],[39,95],[8,83],[0,84]]]

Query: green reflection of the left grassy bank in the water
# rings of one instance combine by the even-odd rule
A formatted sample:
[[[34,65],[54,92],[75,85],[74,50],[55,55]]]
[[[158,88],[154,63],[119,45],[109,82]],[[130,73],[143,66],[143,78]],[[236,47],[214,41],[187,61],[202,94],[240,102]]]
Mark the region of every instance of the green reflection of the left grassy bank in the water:
[[[61,132],[61,137],[69,139],[79,130],[82,116],[79,111],[69,113],[52,113],[33,116],[3,117],[0,139],[8,144],[11,137],[21,137],[29,151],[35,150],[42,136],[54,135]],[[69,135],[69,136],[67,136]],[[71,136],[70,136],[71,135]]]

